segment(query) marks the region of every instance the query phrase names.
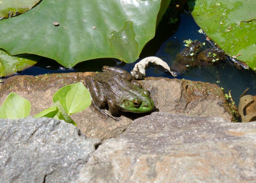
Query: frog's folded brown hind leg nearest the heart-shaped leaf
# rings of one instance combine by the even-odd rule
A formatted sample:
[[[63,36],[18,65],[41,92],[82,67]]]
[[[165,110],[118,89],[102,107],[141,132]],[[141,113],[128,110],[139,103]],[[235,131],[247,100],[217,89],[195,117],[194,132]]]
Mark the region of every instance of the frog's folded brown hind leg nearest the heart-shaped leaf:
[[[92,76],[87,76],[85,82],[95,105],[98,107],[105,107],[107,100],[102,84],[97,81],[95,82]]]

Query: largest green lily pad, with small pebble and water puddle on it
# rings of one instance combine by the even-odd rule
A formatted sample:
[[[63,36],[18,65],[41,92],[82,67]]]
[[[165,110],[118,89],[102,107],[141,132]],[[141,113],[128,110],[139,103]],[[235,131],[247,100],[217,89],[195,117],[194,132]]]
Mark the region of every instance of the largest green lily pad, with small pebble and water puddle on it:
[[[43,0],[0,21],[0,47],[73,67],[84,60],[137,60],[170,0]],[[160,8],[161,7],[161,8]],[[159,16],[158,16],[159,15]]]

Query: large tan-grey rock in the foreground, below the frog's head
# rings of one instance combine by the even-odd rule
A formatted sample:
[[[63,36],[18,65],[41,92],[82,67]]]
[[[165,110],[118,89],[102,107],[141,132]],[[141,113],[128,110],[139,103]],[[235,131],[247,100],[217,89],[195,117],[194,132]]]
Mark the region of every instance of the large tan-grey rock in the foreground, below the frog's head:
[[[256,122],[155,112],[106,140],[77,182],[256,182],[255,141]]]

